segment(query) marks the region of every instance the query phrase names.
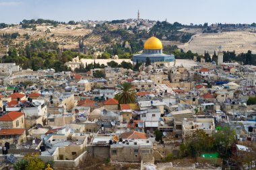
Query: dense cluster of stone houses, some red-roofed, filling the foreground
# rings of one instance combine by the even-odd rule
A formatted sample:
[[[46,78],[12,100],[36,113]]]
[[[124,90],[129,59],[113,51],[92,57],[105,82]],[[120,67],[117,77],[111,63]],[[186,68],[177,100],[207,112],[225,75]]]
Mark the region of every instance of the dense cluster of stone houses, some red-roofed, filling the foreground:
[[[256,67],[199,63],[193,67],[141,66],[140,71],[106,67],[106,77],[88,73],[22,70],[0,65],[0,146],[18,159],[39,153],[43,161],[77,167],[88,155],[124,162],[154,163],[179,154],[195,130],[211,136],[226,124],[236,130],[234,157],[256,140]],[[131,83],[135,103],[115,95]],[[156,142],[154,132],[163,134]],[[247,149],[243,149],[247,148]]]

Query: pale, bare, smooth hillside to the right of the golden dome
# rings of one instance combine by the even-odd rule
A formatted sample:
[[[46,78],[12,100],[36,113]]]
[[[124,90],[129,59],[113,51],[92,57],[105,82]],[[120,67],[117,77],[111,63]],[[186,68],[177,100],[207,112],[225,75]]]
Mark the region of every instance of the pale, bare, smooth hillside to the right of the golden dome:
[[[240,30],[221,33],[199,33],[195,34],[189,42],[179,45],[183,50],[191,50],[199,54],[205,51],[214,53],[222,46],[224,51],[235,51],[236,54],[251,50],[256,53],[256,33],[251,30]]]

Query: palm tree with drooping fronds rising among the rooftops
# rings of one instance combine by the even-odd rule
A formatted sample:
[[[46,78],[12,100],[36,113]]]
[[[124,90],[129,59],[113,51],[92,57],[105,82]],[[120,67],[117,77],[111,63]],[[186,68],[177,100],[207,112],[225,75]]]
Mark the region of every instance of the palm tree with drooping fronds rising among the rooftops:
[[[131,87],[131,83],[121,84],[121,92],[115,95],[115,99],[119,101],[119,104],[135,103],[136,93]]]

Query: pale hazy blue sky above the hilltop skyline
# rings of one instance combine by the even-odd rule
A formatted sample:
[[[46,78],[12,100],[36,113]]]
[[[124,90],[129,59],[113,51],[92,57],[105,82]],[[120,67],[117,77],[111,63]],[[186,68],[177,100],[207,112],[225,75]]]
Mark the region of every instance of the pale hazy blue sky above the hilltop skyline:
[[[141,18],[182,24],[256,22],[256,0],[0,0],[0,23],[22,19],[113,20]]]

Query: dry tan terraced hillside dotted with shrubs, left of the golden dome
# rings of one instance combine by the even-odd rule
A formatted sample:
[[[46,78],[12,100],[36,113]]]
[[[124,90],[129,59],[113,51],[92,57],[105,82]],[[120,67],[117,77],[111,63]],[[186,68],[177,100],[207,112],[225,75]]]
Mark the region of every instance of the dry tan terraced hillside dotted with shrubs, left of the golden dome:
[[[5,53],[6,45],[8,46],[26,46],[32,40],[43,38],[50,42],[58,42],[59,48],[71,49],[79,47],[79,40],[85,39],[85,46],[102,48],[108,46],[108,43],[102,44],[101,36],[92,34],[92,28],[87,28],[84,25],[63,25],[59,24],[56,27],[46,24],[36,24],[36,31],[31,28],[22,28],[12,26],[9,28],[0,29],[0,35],[12,34],[18,32],[20,36],[15,39],[6,40],[0,37],[0,53]],[[86,36],[86,37],[85,37]]]

